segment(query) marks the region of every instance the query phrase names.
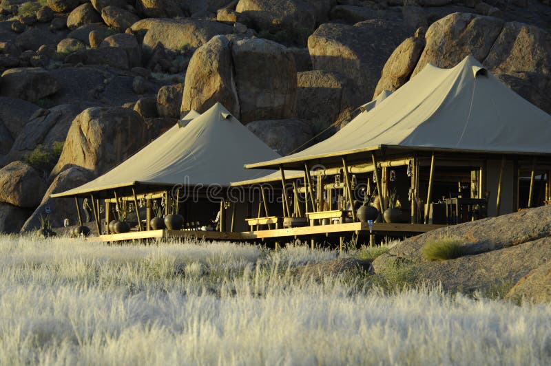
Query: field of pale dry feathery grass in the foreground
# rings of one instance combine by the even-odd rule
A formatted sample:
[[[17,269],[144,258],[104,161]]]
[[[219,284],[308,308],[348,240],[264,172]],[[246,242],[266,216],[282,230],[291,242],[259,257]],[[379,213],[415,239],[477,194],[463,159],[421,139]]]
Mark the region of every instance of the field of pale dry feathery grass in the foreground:
[[[337,257],[0,237],[1,365],[549,365],[551,305],[382,290]]]

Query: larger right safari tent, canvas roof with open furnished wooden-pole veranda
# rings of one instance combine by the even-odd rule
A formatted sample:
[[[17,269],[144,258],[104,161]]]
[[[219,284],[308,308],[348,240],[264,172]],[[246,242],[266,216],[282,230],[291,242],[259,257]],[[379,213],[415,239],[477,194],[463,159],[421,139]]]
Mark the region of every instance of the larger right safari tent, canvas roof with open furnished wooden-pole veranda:
[[[246,167],[301,169],[302,184],[284,193],[301,197],[311,225],[357,221],[370,193],[381,211],[399,200],[398,223],[457,224],[549,200],[550,140],[551,116],[468,56],[451,69],[426,65],[327,140]]]

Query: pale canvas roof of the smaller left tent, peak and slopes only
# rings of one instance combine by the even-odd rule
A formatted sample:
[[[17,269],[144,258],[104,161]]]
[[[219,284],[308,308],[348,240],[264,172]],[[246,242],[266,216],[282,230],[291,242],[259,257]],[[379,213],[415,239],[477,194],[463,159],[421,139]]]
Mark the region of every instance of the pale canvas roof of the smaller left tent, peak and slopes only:
[[[193,114],[190,115],[191,117]],[[183,118],[188,119],[189,116]],[[247,171],[243,165],[280,155],[270,149],[220,103],[174,125],[123,163],[76,189],[52,197],[81,195],[124,186],[220,184],[251,180],[270,171]]]

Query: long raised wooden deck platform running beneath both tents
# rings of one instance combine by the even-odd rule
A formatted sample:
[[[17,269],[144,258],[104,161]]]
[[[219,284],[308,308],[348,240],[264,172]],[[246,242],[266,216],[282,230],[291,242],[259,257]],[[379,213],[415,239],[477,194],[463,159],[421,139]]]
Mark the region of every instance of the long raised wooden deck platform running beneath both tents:
[[[372,233],[375,235],[411,236],[426,233],[430,230],[442,228],[446,225],[425,224],[373,224]],[[230,240],[230,241],[255,241],[278,239],[311,239],[324,235],[326,237],[340,237],[343,235],[370,235],[369,225],[362,222],[348,224],[302,226],[297,228],[280,228],[275,230],[258,230],[247,232],[219,232],[198,230],[149,230],[131,231],[124,234],[100,235],[102,241],[140,241],[145,239],[205,239],[205,240]]]

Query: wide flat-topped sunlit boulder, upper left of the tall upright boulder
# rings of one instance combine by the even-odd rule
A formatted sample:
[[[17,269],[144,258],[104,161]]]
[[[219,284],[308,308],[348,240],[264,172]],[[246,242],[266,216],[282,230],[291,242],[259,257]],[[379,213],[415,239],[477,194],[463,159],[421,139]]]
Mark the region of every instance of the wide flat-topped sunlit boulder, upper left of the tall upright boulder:
[[[147,29],[143,36],[143,51],[151,54],[157,45],[165,50],[181,51],[185,47],[200,47],[216,34],[229,34],[233,28],[216,21],[191,19],[146,19],[134,24],[132,30]],[[136,26],[136,27],[134,27]],[[143,28],[141,28],[143,27]]]

